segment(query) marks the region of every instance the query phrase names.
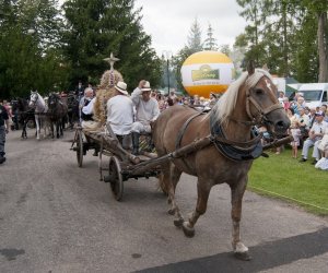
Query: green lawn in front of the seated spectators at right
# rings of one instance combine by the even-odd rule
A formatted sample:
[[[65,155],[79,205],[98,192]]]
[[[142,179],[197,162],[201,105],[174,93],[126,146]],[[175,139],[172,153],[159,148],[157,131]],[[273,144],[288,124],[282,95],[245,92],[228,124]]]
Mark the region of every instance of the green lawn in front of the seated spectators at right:
[[[267,151],[268,152],[268,151]],[[249,171],[248,190],[296,203],[308,212],[328,215],[328,171],[312,165],[312,150],[308,161],[300,163],[292,158],[291,149],[281,154],[268,152],[269,158],[254,162]]]

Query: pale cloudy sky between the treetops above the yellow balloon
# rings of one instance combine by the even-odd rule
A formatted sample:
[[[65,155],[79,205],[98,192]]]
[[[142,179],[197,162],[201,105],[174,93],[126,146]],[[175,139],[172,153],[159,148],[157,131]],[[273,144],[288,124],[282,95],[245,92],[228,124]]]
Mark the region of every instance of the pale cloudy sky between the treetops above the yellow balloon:
[[[164,51],[176,55],[187,45],[195,19],[201,27],[202,40],[211,24],[219,46],[232,47],[246,26],[235,0],[136,0],[134,7],[142,7],[142,25],[152,36],[152,47],[159,56]]]

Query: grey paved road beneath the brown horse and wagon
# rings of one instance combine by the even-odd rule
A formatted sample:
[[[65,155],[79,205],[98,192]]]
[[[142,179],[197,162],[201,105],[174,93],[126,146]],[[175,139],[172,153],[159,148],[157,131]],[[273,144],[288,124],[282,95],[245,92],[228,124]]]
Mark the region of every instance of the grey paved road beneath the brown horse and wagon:
[[[31,135],[33,132],[28,131]],[[155,179],[125,183],[122,202],[98,181],[97,158],[83,168],[61,140],[8,135],[0,166],[0,272],[327,272],[328,221],[284,202],[246,192],[242,236],[253,260],[231,252],[230,192],[218,186],[196,236],[166,214]],[[195,206],[195,178],[177,197]]]

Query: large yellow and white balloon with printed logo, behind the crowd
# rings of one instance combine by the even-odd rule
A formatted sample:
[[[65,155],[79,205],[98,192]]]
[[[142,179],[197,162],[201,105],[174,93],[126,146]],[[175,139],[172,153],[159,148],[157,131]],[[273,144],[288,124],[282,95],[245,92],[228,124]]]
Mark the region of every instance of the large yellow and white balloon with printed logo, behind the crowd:
[[[223,93],[234,81],[232,60],[219,51],[200,51],[190,55],[181,67],[181,79],[190,96],[209,97],[210,93]]]

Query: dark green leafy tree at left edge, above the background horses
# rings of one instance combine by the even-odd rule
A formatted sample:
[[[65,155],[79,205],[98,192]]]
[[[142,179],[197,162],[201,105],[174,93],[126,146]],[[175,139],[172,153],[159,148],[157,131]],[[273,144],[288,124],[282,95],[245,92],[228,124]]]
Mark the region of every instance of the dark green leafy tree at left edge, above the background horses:
[[[55,49],[60,39],[55,4],[46,0],[0,2],[1,96],[27,96],[30,90],[46,93],[57,86],[61,58]]]

